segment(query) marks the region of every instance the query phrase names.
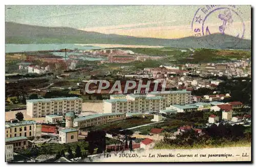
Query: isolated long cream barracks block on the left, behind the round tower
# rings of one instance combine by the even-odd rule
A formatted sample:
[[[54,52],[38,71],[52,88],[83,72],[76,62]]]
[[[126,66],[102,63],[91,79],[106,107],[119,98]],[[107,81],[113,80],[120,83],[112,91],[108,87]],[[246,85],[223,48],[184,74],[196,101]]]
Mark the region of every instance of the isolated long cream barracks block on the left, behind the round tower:
[[[67,112],[80,114],[81,110],[82,99],[78,97],[27,100],[27,115],[31,117],[65,115]]]

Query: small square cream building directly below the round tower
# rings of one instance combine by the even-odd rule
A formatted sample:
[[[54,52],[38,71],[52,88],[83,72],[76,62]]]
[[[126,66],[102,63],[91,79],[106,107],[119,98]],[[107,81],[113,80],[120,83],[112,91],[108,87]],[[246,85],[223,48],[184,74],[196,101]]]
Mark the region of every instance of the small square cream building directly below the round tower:
[[[62,129],[59,130],[59,143],[73,143],[78,142],[78,130],[77,129]]]

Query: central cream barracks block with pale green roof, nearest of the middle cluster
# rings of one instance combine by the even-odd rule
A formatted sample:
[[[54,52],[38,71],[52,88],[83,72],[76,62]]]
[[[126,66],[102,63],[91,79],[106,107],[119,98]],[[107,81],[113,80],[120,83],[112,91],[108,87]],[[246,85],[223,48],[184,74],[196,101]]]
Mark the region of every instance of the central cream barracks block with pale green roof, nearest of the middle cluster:
[[[125,99],[103,100],[104,113],[159,112],[165,99],[161,96],[130,94]]]

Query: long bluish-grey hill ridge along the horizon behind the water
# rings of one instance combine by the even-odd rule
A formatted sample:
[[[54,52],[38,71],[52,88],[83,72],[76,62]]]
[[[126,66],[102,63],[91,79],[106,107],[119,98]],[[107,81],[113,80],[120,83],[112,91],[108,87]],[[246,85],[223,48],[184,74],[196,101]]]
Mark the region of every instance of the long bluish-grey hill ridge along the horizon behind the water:
[[[5,23],[6,43],[39,44],[39,43],[101,43],[125,45],[156,45],[179,48],[231,48],[250,49],[251,41],[239,39],[229,35],[212,34],[208,36],[186,37],[180,39],[139,38],[116,34],[101,34],[76,30],[70,27],[45,27]],[[172,32],[170,32],[172,33]],[[234,41],[240,40],[237,45]]]

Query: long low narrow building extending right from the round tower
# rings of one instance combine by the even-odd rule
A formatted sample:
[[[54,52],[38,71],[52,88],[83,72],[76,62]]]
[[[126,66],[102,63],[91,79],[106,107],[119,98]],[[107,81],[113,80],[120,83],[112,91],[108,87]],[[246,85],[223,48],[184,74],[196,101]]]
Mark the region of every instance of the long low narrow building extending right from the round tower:
[[[124,113],[105,113],[78,117],[74,119],[74,127],[85,128],[93,125],[101,125],[108,122],[125,119]]]

